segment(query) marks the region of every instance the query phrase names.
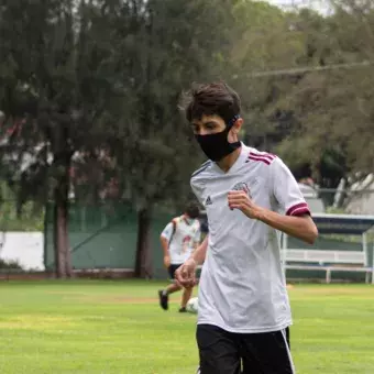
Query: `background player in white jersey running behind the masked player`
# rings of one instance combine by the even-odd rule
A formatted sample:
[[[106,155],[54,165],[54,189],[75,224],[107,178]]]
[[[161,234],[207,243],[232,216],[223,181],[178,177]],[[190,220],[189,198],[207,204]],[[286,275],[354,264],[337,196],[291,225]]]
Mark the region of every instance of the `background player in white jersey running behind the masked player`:
[[[196,204],[189,204],[185,213],[176,217],[161,233],[161,245],[164,251],[164,265],[167,267],[172,279],[175,278],[175,271],[191,255],[200,244],[200,215]],[[180,290],[177,283],[170,284],[167,288],[158,290],[160,305],[164,310],[168,309],[168,295]],[[193,287],[184,288],[179,311],[186,311],[187,301],[193,294]]]

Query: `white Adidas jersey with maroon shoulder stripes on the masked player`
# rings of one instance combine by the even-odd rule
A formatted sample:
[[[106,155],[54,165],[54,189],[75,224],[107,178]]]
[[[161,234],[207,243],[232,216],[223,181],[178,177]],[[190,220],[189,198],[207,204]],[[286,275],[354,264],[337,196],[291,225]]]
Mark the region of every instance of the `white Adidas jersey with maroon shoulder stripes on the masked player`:
[[[289,216],[309,213],[288,167],[242,144],[228,173],[208,161],[194,173],[191,187],[206,207],[209,224],[198,323],[243,333],[292,324],[277,231],[228,206],[228,193],[243,189],[263,208]]]

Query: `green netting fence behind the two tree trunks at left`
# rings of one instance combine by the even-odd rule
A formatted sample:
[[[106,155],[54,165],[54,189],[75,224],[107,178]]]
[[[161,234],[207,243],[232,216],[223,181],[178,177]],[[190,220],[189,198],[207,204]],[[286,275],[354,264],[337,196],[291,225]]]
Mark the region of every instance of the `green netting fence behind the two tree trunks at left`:
[[[169,217],[169,215],[157,213],[152,221],[152,263],[154,273],[158,277],[166,276],[158,238]],[[136,234],[136,212],[127,204],[102,206],[70,204],[69,242],[75,270],[133,268]],[[53,268],[54,263],[53,204],[50,204],[45,216],[46,268]]]

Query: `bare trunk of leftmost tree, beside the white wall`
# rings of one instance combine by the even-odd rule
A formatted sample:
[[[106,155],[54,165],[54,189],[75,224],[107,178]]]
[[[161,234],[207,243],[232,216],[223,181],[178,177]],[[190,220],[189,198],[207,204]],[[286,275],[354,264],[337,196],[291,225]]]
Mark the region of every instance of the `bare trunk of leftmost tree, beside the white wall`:
[[[55,157],[57,167],[57,183],[55,187],[54,208],[54,244],[55,272],[58,278],[72,277],[72,256],[68,238],[68,193],[70,156]]]

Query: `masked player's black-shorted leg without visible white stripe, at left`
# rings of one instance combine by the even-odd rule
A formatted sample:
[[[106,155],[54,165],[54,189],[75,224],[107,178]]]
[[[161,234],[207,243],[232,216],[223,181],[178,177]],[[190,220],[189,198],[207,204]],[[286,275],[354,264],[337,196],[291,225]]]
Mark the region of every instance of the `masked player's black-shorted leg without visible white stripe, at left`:
[[[200,374],[240,374],[240,346],[235,334],[212,324],[198,324]]]

